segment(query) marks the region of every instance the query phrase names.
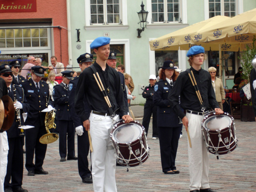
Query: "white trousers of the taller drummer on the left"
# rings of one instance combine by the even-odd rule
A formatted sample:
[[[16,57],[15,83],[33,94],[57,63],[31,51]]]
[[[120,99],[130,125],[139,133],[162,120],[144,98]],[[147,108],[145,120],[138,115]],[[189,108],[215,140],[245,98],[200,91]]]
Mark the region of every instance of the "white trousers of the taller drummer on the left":
[[[117,121],[116,115],[114,120]],[[94,192],[117,192],[116,189],[116,155],[109,134],[113,119],[90,113],[90,134],[93,145],[92,176]]]

